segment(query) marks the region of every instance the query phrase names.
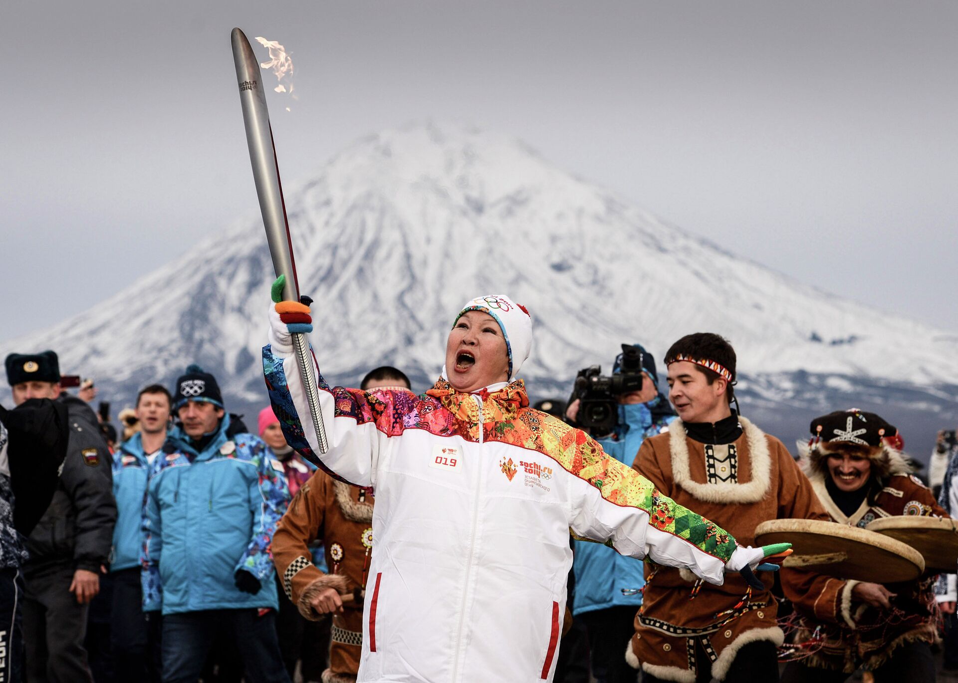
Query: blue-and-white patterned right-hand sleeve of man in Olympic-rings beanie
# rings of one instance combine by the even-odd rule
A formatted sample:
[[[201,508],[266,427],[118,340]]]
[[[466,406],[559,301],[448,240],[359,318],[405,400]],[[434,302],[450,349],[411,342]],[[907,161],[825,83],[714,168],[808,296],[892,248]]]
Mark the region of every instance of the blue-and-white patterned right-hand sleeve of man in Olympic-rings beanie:
[[[261,582],[272,581],[273,556],[270,544],[276,524],[289,505],[289,488],[283,466],[272,457],[266,444],[251,435],[237,441],[237,457],[256,465],[257,479],[249,487],[249,504],[253,512],[253,529],[246,552],[239,558],[237,569],[249,572]]]

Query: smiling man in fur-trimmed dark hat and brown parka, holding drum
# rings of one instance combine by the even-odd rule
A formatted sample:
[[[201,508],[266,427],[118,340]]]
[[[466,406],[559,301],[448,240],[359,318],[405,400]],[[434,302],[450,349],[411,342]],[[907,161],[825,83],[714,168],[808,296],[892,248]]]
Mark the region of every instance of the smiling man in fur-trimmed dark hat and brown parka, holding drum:
[[[948,516],[887,444],[897,430],[878,415],[837,411],[811,421],[810,431],[811,442],[799,444],[802,467],[834,522],[865,527],[881,517]],[[801,616],[797,640],[810,650],[782,680],[840,682],[862,666],[877,681],[931,683],[933,583],[922,577],[886,586],[783,569],[785,595]],[[821,642],[812,639],[816,628]]]

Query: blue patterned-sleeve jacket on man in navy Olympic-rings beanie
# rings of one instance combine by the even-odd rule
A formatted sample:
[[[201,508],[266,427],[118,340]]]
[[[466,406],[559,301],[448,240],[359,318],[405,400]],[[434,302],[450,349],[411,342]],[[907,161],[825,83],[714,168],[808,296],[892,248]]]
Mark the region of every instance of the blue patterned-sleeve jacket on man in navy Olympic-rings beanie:
[[[144,611],[278,606],[269,550],[289,503],[283,466],[262,440],[230,434],[223,417],[196,452],[174,429],[150,469],[143,530]],[[235,585],[242,569],[260,580],[255,594]]]

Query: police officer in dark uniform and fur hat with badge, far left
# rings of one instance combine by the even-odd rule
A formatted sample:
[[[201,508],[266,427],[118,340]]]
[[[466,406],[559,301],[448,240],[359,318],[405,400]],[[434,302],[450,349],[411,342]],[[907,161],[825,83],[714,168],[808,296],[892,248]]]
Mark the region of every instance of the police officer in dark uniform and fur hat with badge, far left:
[[[53,500],[27,539],[23,630],[28,681],[90,681],[83,636],[87,608],[100,591],[116,504],[110,456],[93,410],[60,389],[57,353],[11,353],[13,402],[51,398],[66,408],[66,458]]]

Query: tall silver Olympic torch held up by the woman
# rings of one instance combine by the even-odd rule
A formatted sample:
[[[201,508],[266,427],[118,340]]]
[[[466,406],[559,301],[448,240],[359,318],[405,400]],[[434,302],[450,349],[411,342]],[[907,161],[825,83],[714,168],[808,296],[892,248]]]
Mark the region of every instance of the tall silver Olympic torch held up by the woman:
[[[239,30],[233,29],[233,61],[237,68],[239,83],[239,102],[242,104],[242,119],[246,126],[246,144],[249,146],[249,158],[253,164],[253,180],[256,182],[256,194],[260,197],[262,225],[266,229],[269,242],[269,254],[273,258],[276,277],[286,276],[283,298],[299,301],[299,282],[296,279],[296,263],[293,261],[293,244],[289,235],[289,223],[286,220],[286,208],[283,200],[283,186],[280,184],[280,167],[276,162],[276,148],[273,145],[273,130],[269,125],[269,112],[266,110],[266,96],[262,89],[260,64],[249,46],[249,40]],[[329,450],[326,440],[326,428],[319,408],[319,391],[316,376],[313,374],[312,358],[309,353],[306,334],[293,334],[293,348],[296,363],[309,403],[309,415],[316,431],[319,451]]]

